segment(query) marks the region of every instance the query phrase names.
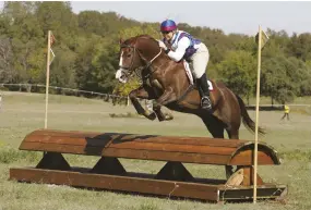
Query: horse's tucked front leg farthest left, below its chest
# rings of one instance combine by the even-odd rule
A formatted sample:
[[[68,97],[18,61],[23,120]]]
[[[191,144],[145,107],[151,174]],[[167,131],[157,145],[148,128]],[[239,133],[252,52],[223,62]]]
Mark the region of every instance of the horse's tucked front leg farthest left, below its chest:
[[[131,99],[136,112],[141,115],[144,115],[145,118],[149,119],[149,120],[155,120],[156,119],[156,114],[153,113],[148,113],[140,103],[140,101],[137,100],[137,98],[141,99],[149,99],[149,92],[145,90],[144,87],[140,87],[137,89],[132,90],[129,94],[129,98]]]

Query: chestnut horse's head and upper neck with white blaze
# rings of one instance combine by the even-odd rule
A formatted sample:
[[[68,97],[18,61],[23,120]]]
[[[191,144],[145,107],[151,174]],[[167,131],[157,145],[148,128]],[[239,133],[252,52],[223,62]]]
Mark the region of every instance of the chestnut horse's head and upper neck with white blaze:
[[[160,53],[157,41],[147,35],[132,37],[125,41],[120,39],[120,61],[116,78],[127,83],[135,70],[149,66]]]

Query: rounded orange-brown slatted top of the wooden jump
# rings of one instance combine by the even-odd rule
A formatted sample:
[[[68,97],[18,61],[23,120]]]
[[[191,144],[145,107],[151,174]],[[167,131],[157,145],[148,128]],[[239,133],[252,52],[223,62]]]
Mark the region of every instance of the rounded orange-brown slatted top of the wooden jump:
[[[202,140],[199,140],[202,139]],[[55,144],[55,145],[52,145]],[[57,146],[59,145],[59,146]],[[228,145],[228,146],[227,146]],[[61,147],[61,148],[59,148]],[[226,140],[213,139],[205,137],[174,137],[174,136],[157,136],[157,135],[133,135],[119,133],[96,133],[96,132],[67,132],[39,129],[27,135],[22,141],[20,149],[22,150],[39,150],[53,151],[64,153],[83,153],[89,156],[110,156],[112,153],[122,153],[124,150],[125,157],[153,157],[149,160],[167,160],[171,161],[175,158],[169,158],[169,153],[184,152],[192,155],[208,155],[207,161],[202,158],[194,157],[189,160],[183,160],[190,163],[210,163],[210,164],[230,164],[230,165],[252,165],[253,155],[252,145],[250,141],[243,140]],[[107,150],[109,148],[109,150]],[[135,155],[133,151],[143,152]],[[237,152],[238,150],[238,152]],[[243,151],[244,150],[244,151]],[[165,155],[165,159],[155,159],[156,157],[149,153],[158,152]],[[168,153],[166,153],[168,152]],[[130,157],[132,153],[133,157]],[[211,155],[211,156],[210,156]],[[220,157],[217,160],[217,156]],[[235,156],[234,156],[235,155]],[[176,156],[176,153],[174,155]],[[188,156],[188,155],[187,155]],[[226,156],[226,157],[224,157]],[[204,157],[204,156],[202,156]],[[146,158],[143,158],[147,160]],[[232,159],[232,160],[229,160]],[[202,160],[203,162],[198,162]],[[176,160],[175,161],[181,161]],[[264,144],[259,145],[259,164],[278,164],[278,158],[275,152]]]

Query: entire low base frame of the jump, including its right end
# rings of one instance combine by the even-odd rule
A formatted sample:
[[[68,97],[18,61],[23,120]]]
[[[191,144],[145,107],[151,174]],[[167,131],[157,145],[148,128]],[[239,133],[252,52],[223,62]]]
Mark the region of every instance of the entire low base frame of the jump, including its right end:
[[[210,201],[251,200],[253,196],[252,187],[248,186],[230,187],[223,184],[170,182],[153,180],[152,176],[149,177],[151,178],[116,176],[29,168],[10,169],[10,180],[28,183],[135,192],[148,195],[182,197]],[[258,198],[276,199],[284,196],[283,194],[286,192],[286,185],[259,185]]]

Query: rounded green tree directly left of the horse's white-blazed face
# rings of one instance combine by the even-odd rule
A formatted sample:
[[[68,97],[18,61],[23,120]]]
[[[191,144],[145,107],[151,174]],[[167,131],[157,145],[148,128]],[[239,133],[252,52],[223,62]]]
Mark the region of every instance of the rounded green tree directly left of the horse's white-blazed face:
[[[112,92],[115,72],[118,67],[116,44],[96,35],[88,37],[79,49],[75,60],[76,78],[80,89]]]

